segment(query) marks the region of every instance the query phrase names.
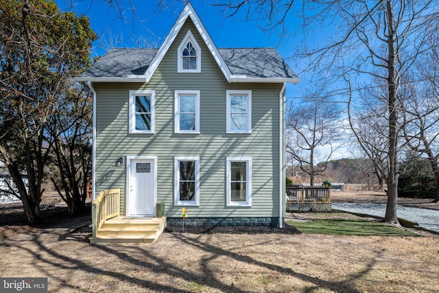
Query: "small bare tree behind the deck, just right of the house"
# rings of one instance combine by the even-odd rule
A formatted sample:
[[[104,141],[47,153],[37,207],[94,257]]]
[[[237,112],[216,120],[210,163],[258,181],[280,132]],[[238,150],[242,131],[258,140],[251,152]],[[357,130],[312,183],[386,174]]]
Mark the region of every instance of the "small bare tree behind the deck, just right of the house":
[[[321,94],[294,104],[288,113],[286,150],[300,170],[309,176],[311,186],[314,177],[327,169],[331,155],[337,150],[339,120],[337,106]]]

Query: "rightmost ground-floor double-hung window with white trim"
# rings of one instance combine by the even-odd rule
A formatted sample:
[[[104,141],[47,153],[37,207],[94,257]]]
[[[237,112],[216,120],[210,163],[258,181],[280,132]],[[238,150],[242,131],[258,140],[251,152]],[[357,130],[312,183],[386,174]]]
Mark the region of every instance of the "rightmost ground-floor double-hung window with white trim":
[[[226,204],[228,207],[252,206],[252,158],[227,158]]]

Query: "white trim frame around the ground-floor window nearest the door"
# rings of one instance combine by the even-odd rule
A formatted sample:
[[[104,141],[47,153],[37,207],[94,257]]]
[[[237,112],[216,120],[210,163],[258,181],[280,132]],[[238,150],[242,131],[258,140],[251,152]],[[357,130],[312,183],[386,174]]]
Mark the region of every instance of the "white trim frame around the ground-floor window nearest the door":
[[[195,161],[195,200],[180,200],[180,161]],[[174,205],[200,207],[200,157],[175,156],[174,157]]]

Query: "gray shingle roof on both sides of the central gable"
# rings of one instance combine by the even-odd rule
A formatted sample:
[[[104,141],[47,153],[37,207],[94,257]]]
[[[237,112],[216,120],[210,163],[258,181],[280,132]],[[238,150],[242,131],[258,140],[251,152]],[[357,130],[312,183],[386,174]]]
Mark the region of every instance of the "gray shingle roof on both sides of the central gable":
[[[247,78],[297,78],[274,48],[218,49],[233,75]],[[110,49],[79,78],[126,78],[143,75],[158,49]]]

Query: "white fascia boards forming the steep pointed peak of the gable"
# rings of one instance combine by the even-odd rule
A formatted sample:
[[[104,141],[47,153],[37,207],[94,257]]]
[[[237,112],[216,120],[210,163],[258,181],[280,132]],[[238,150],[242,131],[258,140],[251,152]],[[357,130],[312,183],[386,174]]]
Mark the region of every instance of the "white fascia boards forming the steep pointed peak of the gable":
[[[185,21],[187,18],[190,17],[193,24],[198,30],[198,33],[201,35],[202,39],[204,40],[204,43],[209,48],[209,51],[211,51],[211,54],[217,64],[219,65],[219,68],[224,73],[224,76],[227,80],[229,80],[230,75],[232,73],[230,72],[230,69],[228,69],[226,62],[224,62],[224,59],[222,58],[221,54],[219,54],[219,51],[215,44],[213,43],[213,40],[209,36],[208,32],[206,31],[206,28],[202,24],[200,17],[196,14],[195,10],[193,9],[193,6],[191,3],[187,3],[185,6],[185,9],[183,9],[182,13],[178,17],[176,23],[169,31],[169,34],[166,36],[165,41],[163,41],[163,44],[161,45],[160,49],[158,49],[158,52],[156,56],[154,56],[154,59],[152,60],[150,67],[148,67],[147,71],[145,72],[145,79],[146,82],[150,82],[150,79],[152,78],[152,75],[156,71],[158,65],[160,65],[161,61],[165,57],[167,51],[169,50],[169,47],[171,47],[172,43],[174,43],[174,40],[176,39],[176,36],[180,32],[182,26],[185,24]]]

